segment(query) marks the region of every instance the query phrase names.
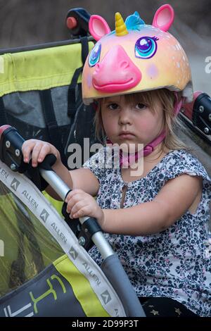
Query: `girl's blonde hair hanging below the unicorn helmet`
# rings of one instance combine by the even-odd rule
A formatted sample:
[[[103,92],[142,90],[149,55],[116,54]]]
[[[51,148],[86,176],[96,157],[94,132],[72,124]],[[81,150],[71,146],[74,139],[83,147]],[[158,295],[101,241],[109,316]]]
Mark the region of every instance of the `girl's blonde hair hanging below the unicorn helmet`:
[[[156,97],[159,99],[164,111],[164,123],[162,130],[165,130],[166,132],[166,137],[162,144],[162,150],[164,147],[167,147],[167,149],[188,149],[186,144],[181,142],[176,134],[176,131],[181,126],[181,122],[178,116],[174,115],[174,104],[176,101],[181,100],[181,92],[178,92],[177,96],[178,100],[176,99],[174,92],[170,91],[169,89],[155,89],[147,92],[124,94],[122,96],[129,104],[134,104],[136,102],[143,103],[146,106],[149,106],[154,112],[156,109]],[[101,115],[101,104],[104,100],[105,99],[98,100],[98,106],[94,118],[96,138],[103,144],[106,143],[106,132],[103,127],[103,120]]]

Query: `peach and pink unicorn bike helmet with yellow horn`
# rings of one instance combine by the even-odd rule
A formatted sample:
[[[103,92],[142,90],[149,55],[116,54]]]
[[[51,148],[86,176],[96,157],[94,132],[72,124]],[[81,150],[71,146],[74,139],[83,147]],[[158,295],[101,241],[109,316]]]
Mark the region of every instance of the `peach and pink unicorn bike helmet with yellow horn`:
[[[92,15],[89,32],[97,41],[90,51],[82,75],[84,104],[111,95],[166,88],[182,92],[184,103],[193,100],[188,58],[169,32],[174,10],[165,4],[156,11],[153,24],[146,25],[139,13],[122,19],[115,14],[115,30],[106,20]]]

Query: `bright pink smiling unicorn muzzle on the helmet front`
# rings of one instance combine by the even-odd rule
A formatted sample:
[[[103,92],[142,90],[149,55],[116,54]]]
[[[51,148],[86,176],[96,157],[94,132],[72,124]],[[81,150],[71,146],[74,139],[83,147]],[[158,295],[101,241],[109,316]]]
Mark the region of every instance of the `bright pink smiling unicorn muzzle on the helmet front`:
[[[101,92],[122,92],[141,81],[141,71],[120,45],[114,46],[103,60],[96,64],[92,78],[95,89]]]

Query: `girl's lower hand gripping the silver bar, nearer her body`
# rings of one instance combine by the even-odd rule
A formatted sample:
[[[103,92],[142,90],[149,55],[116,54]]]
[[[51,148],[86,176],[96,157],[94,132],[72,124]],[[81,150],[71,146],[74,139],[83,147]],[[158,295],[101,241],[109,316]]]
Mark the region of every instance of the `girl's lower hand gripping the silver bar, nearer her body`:
[[[96,200],[90,194],[82,191],[82,189],[73,189],[65,199],[68,204],[67,212],[70,213],[70,218],[79,218],[83,216],[91,216],[98,220],[100,225],[103,224],[104,214]]]

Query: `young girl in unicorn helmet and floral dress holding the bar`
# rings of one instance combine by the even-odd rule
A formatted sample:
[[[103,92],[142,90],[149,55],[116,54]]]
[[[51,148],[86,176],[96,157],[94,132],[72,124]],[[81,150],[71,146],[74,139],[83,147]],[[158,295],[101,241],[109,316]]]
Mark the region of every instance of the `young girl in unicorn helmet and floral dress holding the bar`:
[[[98,220],[146,316],[211,316],[211,185],[174,134],[177,113],[193,90],[186,54],[167,32],[173,20],[169,5],[158,9],[153,25],[136,12],[124,23],[117,13],[110,32],[103,18],[91,16],[89,30],[98,42],[84,65],[83,97],[85,104],[97,102],[96,132],[110,145],[72,171],[46,142],[25,142],[23,155],[28,162],[32,153],[34,166],[56,155],[53,169],[72,188],[70,218]],[[134,147],[128,158],[120,150],[120,167],[110,166],[114,144]],[[136,175],[139,161],[143,171]],[[48,192],[56,197],[51,187]],[[101,265],[96,247],[89,254]]]

